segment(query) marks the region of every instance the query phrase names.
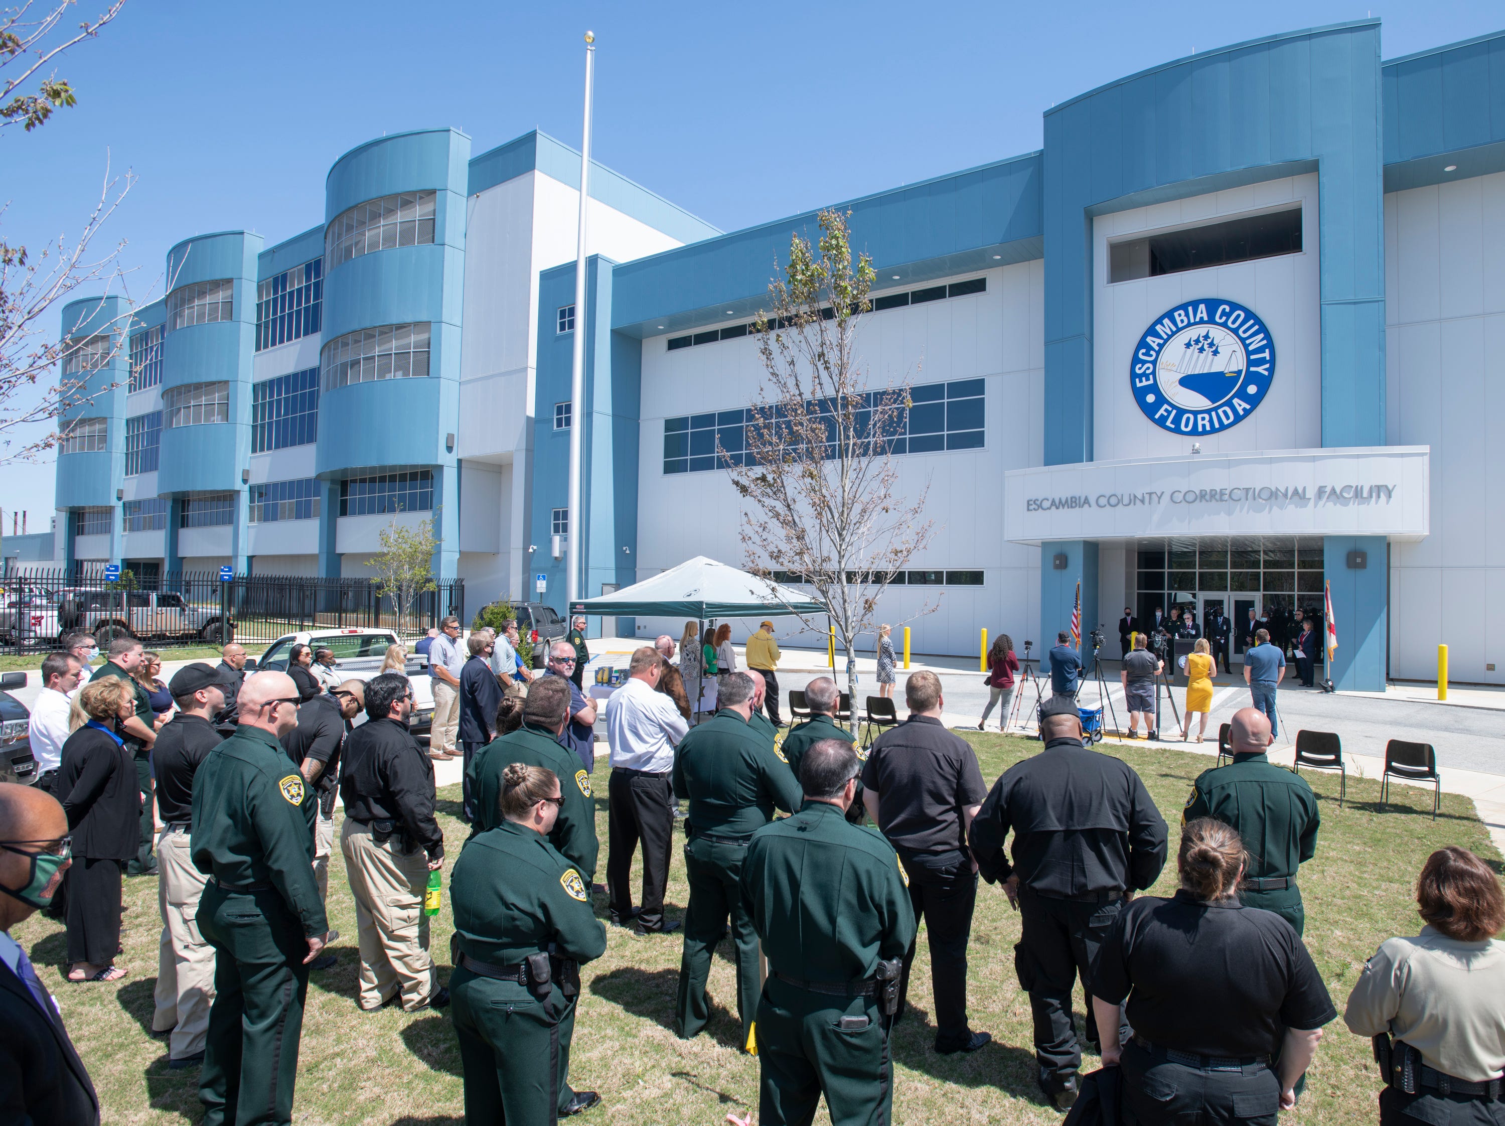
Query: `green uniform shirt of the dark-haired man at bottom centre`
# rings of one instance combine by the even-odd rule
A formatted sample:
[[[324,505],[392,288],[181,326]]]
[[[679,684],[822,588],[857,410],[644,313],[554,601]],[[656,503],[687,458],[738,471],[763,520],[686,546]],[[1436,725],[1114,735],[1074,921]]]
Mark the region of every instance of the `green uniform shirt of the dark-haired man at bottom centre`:
[[[752,834],[742,908],[769,966],[807,981],[868,978],[879,959],[903,957],[915,938],[892,846],[823,801]]]

